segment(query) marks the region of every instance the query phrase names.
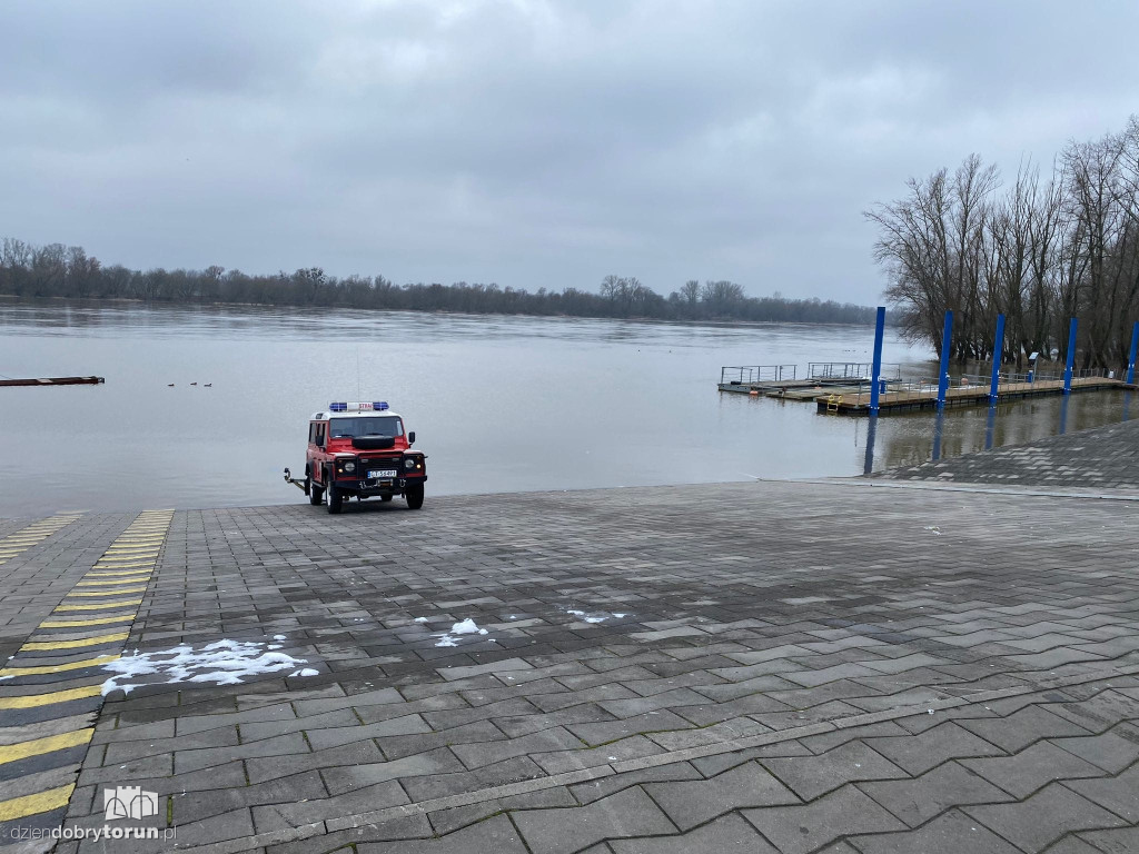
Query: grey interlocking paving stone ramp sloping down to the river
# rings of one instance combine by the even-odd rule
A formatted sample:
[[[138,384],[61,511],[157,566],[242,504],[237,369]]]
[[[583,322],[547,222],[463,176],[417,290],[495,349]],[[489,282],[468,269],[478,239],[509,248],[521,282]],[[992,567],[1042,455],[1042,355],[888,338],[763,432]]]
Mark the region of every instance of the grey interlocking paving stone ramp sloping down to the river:
[[[109,691],[64,827],[175,840],[56,851],[1139,851],[1137,515],[869,482],[179,511],[126,655],[303,663]],[[157,815],[106,821],[118,786]]]

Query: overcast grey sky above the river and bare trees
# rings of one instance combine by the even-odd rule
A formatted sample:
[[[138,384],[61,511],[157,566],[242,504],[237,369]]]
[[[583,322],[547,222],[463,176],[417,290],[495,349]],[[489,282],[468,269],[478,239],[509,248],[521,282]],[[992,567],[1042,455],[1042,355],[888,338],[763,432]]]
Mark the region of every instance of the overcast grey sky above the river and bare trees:
[[[6,2],[0,236],[871,304],[861,212],[1139,112],[1132,2]]]

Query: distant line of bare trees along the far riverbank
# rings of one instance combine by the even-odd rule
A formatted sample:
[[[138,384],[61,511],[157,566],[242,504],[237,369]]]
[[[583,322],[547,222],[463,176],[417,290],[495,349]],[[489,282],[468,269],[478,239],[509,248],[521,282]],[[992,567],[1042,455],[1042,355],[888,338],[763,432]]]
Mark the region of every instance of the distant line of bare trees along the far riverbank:
[[[130,270],[104,265],[82,247],[0,241],[0,294],[24,298],[141,299],[163,303],[452,311],[659,320],[748,320],[810,323],[874,323],[874,310],[819,299],[747,297],[731,281],[696,280],[663,297],[636,278],[607,276],[600,293],[566,288],[500,288],[498,285],[395,285],[383,276],[339,279],[312,266],[272,276],[240,270]]]

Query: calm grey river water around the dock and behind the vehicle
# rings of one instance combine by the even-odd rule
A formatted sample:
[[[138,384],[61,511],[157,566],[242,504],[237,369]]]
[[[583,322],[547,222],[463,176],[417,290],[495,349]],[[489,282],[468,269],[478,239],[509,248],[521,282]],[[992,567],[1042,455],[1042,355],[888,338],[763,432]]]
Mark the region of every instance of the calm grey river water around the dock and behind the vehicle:
[[[0,515],[303,500],[309,416],[386,400],[432,494],[861,474],[867,420],[716,389],[721,366],[868,362],[874,331],[411,312],[0,304]],[[884,359],[932,376],[887,332]],[[191,385],[197,383],[198,385]],[[171,385],[172,384],[172,385]],[[208,387],[206,384],[210,384]],[[1122,393],[947,413],[945,455],[1118,421]],[[878,420],[875,469],[929,459],[929,413]],[[700,499],[698,486],[691,490]]]

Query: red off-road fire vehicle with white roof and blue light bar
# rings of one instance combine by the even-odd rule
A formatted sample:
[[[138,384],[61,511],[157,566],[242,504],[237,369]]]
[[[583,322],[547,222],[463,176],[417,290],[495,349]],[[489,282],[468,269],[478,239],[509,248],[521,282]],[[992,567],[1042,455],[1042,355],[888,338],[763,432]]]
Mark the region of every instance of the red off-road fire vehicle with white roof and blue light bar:
[[[302,486],[312,504],[327,503],[338,514],[344,500],[378,498],[407,499],[408,508],[424,504],[427,455],[412,451],[415,432],[403,429],[403,419],[383,401],[329,403],[309,419],[309,452],[304,481],[285,479]]]

